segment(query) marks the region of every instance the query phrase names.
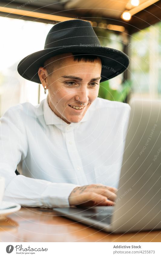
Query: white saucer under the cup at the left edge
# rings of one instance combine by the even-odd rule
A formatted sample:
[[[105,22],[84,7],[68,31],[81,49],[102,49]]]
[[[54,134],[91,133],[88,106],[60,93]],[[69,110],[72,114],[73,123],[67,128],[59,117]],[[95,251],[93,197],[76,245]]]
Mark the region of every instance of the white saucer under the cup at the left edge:
[[[0,203],[0,219],[4,219],[5,216],[17,212],[19,209],[21,209],[21,205],[18,203],[2,201]]]

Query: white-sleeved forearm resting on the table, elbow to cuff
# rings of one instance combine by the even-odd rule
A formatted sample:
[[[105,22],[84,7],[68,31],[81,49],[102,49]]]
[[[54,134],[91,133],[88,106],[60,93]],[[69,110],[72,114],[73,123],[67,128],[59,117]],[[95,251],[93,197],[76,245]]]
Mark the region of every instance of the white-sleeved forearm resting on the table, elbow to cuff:
[[[76,186],[18,175],[6,187],[3,200],[28,207],[66,207],[69,206],[68,197]]]

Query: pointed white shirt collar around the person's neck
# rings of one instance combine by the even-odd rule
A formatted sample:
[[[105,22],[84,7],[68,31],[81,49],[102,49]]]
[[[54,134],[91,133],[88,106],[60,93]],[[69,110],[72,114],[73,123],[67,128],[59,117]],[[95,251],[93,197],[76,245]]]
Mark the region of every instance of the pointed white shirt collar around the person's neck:
[[[61,124],[61,126],[66,127],[69,124],[66,123],[64,120],[62,120],[60,117],[58,117],[51,109],[50,106],[48,104],[48,94],[46,99],[44,99],[44,103],[43,103],[43,114],[44,114],[44,119],[47,125],[50,124]],[[79,124],[81,122],[87,121],[89,119],[89,109],[86,111],[84,117],[82,118],[82,120],[80,120],[77,123],[71,123],[70,126],[75,126],[75,124]]]

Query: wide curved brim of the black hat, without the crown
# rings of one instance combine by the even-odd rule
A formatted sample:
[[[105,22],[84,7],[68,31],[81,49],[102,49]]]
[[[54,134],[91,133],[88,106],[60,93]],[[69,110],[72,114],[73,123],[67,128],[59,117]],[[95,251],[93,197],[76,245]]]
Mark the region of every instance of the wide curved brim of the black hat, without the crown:
[[[27,80],[41,83],[38,76],[38,69],[43,67],[44,62],[52,56],[63,53],[82,53],[97,55],[101,58],[101,81],[109,80],[124,72],[129,66],[129,58],[122,51],[106,48],[106,47],[93,47],[93,46],[64,46],[47,48],[37,51],[33,54],[27,55],[18,64],[18,73]]]

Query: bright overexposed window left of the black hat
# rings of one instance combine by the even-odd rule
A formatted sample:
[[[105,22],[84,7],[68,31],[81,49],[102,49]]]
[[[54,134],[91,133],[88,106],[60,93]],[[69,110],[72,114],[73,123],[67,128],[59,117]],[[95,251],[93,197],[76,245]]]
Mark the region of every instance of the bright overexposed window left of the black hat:
[[[0,17],[0,116],[19,103],[38,104],[38,84],[22,78],[17,65],[28,54],[44,48],[53,24]],[[45,98],[40,87],[40,100]]]

